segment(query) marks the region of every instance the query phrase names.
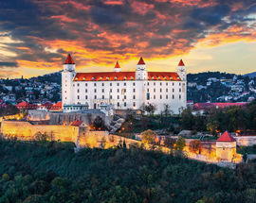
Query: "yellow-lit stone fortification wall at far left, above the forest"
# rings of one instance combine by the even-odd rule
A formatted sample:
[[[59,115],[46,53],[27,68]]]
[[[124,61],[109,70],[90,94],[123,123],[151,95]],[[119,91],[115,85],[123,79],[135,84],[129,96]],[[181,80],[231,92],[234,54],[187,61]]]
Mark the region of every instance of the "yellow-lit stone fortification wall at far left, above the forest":
[[[79,127],[55,125],[31,125],[24,121],[3,121],[1,133],[4,137],[17,137],[18,140],[34,140],[38,133],[46,133],[52,140],[76,143]]]

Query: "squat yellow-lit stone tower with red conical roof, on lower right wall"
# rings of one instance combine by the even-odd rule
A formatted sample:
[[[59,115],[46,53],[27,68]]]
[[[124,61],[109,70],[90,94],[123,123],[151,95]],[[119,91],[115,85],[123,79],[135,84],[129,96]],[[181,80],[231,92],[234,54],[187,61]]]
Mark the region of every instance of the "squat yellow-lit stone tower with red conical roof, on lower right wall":
[[[220,161],[233,161],[236,156],[236,140],[224,132],[216,141],[216,157]]]

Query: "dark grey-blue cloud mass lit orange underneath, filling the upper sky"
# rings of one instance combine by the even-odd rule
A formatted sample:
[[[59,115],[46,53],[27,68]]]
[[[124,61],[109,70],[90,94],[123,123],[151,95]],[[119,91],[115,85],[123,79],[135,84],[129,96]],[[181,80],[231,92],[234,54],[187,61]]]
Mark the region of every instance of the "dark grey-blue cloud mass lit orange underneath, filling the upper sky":
[[[92,60],[97,61],[100,58],[111,60],[117,54],[169,56],[177,50],[178,53],[188,52],[210,33],[226,33],[233,25],[247,29],[255,21],[247,17],[256,11],[253,0],[120,2],[1,1],[0,30],[3,33],[0,31],[0,37],[20,41],[3,42],[10,52],[17,54],[9,61],[55,62],[68,52],[81,54],[78,60],[82,60],[85,55],[82,50],[94,53]],[[232,34],[247,35],[242,31]],[[46,47],[56,51],[49,52]],[[103,52],[108,55],[102,56]]]

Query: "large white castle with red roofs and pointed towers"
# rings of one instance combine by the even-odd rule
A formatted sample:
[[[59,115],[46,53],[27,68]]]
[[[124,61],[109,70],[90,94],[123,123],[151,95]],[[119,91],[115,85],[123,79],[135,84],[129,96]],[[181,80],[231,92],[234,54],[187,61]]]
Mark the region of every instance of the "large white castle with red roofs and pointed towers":
[[[76,73],[76,64],[68,55],[62,73],[64,112],[102,109],[138,110],[143,104],[155,105],[155,113],[169,105],[179,113],[187,106],[187,75],[182,59],[176,72],[148,72],[142,58],[135,72]]]

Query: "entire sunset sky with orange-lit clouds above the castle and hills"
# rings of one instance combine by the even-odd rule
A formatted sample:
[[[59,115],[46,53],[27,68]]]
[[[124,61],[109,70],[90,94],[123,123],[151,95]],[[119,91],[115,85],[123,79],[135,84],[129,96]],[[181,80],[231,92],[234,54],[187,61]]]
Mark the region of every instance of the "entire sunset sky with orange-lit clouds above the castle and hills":
[[[3,0],[0,77],[78,72],[256,72],[255,0]]]

